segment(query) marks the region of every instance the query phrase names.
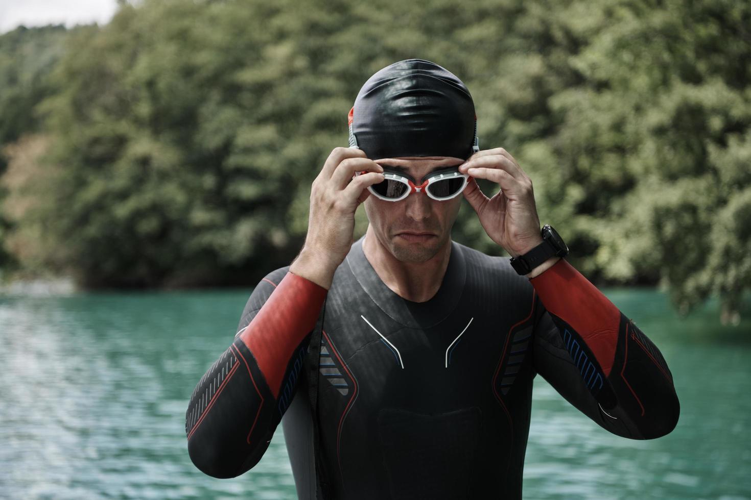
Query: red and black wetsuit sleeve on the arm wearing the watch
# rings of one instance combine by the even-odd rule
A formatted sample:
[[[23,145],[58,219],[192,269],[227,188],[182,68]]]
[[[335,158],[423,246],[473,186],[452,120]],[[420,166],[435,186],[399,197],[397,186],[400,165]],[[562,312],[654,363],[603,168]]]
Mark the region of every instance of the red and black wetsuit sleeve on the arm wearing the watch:
[[[680,414],[657,347],[565,259],[529,280],[539,300],[535,369],[611,433],[653,439]]]

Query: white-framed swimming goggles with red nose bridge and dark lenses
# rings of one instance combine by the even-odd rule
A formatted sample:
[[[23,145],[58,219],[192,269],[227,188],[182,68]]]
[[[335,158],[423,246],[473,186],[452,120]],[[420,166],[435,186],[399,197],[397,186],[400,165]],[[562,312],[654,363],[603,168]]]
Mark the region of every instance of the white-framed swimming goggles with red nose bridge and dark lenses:
[[[355,172],[354,176],[367,172]],[[462,174],[457,169],[432,172],[423,178],[423,183],[415,185],[415,179],[406,174],[388,172],[384,169],[385,179],[378,184],[370,184],[368,190],[376,198],[387,202],[398,202],[411,193],[424,191],[427,196],[438,201],[452,199],[459,196],[467,185],[469,175]]]

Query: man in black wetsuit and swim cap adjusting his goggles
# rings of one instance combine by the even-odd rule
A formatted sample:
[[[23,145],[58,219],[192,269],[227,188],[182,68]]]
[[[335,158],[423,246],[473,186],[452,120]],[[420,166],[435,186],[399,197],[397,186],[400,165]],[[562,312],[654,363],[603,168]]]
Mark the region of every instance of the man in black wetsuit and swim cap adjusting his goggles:
[[[475,121],[463,82],[430,61],[363,85],[351,147],[312,184],[303,249],[258,283],[193,394],[198,469],[243,474],[284,415],[301,499],[518,499],[536,373],[611,433],[675,427],[662,355],[562,259],[532,181],[503,148],[479,151]],[[511,262],[451,241],[460,194]]]

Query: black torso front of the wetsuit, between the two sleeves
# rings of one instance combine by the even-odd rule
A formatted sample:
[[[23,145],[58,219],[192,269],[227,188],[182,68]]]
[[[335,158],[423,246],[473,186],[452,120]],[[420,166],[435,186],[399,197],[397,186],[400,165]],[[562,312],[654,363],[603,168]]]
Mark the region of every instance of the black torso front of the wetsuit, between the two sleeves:
[[[505,269],[488,267],[496,262],[466,265],[464,286],[455,259],[436,300],[415,304],[383,286],[357,244],[351,257],[334,277],[321,336],[318,421],[334,498],[516,496],[531,286],[508,286]],[[443,470],[453,472],[436,478]]]

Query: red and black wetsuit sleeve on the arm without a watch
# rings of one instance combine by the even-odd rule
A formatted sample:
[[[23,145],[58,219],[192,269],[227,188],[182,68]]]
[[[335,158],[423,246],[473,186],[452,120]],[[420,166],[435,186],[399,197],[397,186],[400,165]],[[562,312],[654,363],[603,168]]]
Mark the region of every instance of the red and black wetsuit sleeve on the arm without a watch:
[[[188,453],[201,472],[234,478],[261,460],[291,403],[327,290],[287,268],[253,290],[234,342],[193,391]]]

